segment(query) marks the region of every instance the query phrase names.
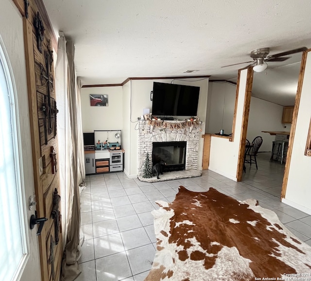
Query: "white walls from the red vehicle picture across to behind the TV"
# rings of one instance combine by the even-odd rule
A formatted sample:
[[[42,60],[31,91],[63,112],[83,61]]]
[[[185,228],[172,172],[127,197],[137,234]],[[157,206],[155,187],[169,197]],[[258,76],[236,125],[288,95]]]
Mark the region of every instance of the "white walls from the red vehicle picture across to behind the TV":
[[[175,84],[200,87],[198,116],[206,120],[207,85],[208,78],[200,81],[197,79],[175,80]],[[124,154],[124,173],[129,178],[137,177],[138,171],[138,117],[144,108],[151,111],[152,101],[150,92],[153,82],[171,83],[172,79],[158,80],[131,80],[123,87],[94,87],[82,88],[82,119],[83,131],[94,130],[122,130],[122,148]],[[90,94],[108,94],[109,106],[90,106]],[[205,122],[202,124],[202,134],[205,133]],[[198,169],[202,169],[204,139],[200,139]]]

